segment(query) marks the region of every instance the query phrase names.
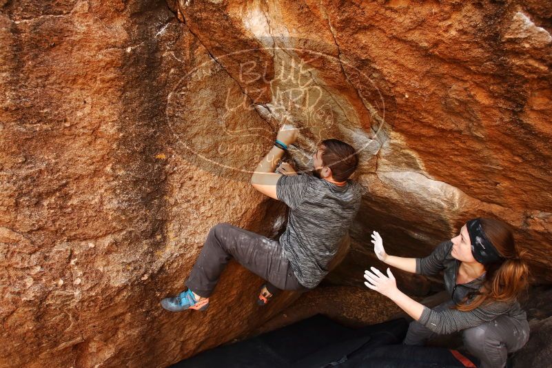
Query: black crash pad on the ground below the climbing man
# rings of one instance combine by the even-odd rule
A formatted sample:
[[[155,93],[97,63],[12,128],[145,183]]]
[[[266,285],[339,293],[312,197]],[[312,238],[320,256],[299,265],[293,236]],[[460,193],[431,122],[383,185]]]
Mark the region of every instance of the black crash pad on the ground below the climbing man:
[[[203,351],[172,368],[465,367],[448,349],[400,345],[407,329],[402,318],[354,329],[317,315]]]

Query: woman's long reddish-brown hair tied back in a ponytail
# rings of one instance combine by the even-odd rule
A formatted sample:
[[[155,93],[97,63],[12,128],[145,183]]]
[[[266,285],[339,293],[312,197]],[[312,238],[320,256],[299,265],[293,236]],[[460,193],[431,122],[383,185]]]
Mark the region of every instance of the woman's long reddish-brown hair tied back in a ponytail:
[[[525,251],[515,246],[513,231],[509,225],[492,218],[481,218],[485,235],[504,258],[502,263],[485,265],[485,281],[471,303],[456,306],[460,311],[471,311],[494,300],[513,302],[527,287],[529,267],[523,260]]]

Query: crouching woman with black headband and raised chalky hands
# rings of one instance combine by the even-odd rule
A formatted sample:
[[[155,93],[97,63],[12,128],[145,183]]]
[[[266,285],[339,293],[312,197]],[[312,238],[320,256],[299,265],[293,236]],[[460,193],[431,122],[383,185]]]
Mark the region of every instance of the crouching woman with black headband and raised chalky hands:
[[[480,367],[504,367],[507,354],[529,339],[527,315],[517,301],[527,286],[528,267],[515,247],[513,232],[502,221],[475,218],[460,234],[438,245],[425,258],[389,256],[380,234],[372,234],[378,259],[398,269],[422,275],[444,274],[451,296],[429,309],[397,289],[389,268],[387,276],[375,267],[365,271],[365,285],[387,296],[414,318],[405,345],[424,345],[439,334],[462,331],[464,346],[480,359]]]

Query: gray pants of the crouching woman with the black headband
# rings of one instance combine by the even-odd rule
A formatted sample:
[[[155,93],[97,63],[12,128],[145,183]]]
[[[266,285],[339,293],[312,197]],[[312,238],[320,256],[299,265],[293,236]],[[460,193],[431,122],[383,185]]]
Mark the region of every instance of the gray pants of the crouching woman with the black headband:
[[[449,308],[453,302],[438,305],[434,310]],[[425,345],[438,336],[416,320],[409,325],[405,345]],[[498,316],[482,325],[462,331],[464,347],[481,362],[481,368],[502,368],[509,353],[521,349],[529,340],[529,323],[510,316]]]

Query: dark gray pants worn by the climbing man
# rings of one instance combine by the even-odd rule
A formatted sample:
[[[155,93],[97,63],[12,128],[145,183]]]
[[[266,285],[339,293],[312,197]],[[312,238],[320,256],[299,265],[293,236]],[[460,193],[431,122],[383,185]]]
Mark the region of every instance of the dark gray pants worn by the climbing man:
[[[267,280],[271,294],[279,290],[307,290],[295,277],[280,243],[227,223],[215,225],[209,231],[186,286],[208,298],[231,258]]]

